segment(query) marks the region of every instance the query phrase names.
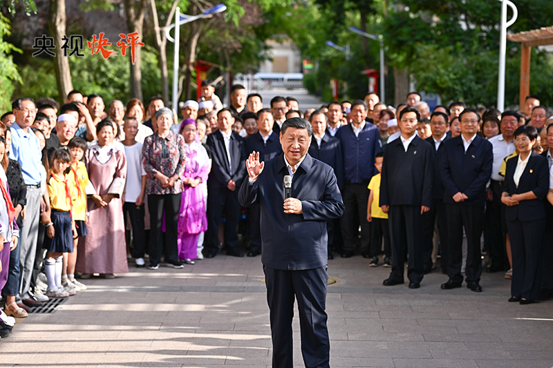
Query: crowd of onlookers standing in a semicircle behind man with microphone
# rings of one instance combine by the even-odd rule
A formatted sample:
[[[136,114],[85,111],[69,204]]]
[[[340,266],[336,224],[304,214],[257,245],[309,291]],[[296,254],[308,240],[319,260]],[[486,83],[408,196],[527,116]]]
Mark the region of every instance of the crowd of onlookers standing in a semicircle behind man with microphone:
[[[343,197],[344,215],[327,224],[329,260],[360,253],[391,267],[386,286],[404,283],[407,262],[413,289],[440,267],[442,289],[465,273],[478,292],[483,252],[485,271],[512,278],[509,301],[553,297],[553,117],[538,97],[501,113],[462,101],[431,111],[418,93],[386,106],[368,93],[302,111],[292,97],[264,106],[238,84],[228,107],[212,81],[201,91],[182,119],[160,97],[106,106],[76,90],[61,107],[18,98],[1,116],[0,337],[9,316],[129,262],[182,269],[221,251],[260,255],[267,220],[238,189],[250,153],[283,153],[292,117],[310,122],[308,154],[334,169]]]

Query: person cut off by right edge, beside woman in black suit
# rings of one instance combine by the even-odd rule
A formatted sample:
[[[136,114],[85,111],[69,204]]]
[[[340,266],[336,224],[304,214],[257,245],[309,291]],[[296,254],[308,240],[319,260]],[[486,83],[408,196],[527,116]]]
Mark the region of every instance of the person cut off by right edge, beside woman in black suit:
[[[548,167],[553,166],[553,124],[547,127],[547,144],[549,149],[541,155],[547,158]],[[550,188],[553,182],[550,182]],[[541,296],[540,300],[550,300],[553,298],[553,204],[547,198],[545,199],[545,234],[543,235],[543,262],[541,266]]]

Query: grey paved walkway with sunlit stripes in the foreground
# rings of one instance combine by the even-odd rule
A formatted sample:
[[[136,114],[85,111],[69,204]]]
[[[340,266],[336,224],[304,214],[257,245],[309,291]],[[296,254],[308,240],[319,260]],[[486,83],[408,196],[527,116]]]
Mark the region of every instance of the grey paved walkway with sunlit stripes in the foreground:
[[[503,273],[483,293],[383,287],[390,269],[360,256],[329,261],[331,367],[553,366],[553,302],[508,303]],[[217,255],[184,270],[93,278],[55,313],[30,314],[0,340],[1,367],[270,367],[261,260]],[[294,363],[303,367],[294,318]]]

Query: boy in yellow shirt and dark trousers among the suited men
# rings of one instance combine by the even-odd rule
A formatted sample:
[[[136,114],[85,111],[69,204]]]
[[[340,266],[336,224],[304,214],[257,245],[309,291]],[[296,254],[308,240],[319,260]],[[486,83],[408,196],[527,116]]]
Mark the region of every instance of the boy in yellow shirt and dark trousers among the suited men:
[[[380,173],[382,171],[382,162],[384,161],[384,152],[379,152],[375,156],[375,167],[378,170],[377,175],[373,176],[368,188],[371,193],[368,195],[367,221],[371,222],[371,255],[373,259],[368,265],[370,267],[378,266],[378,253],[380,253],[380,244],[384,238],[384,267],[391,267],[392,248],[390,241],[390,229],[388,228],[388,214],[382,212],[380,208]]]

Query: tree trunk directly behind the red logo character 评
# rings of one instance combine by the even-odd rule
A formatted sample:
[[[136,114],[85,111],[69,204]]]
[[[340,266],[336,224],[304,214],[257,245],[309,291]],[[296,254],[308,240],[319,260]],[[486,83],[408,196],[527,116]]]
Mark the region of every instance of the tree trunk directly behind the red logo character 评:
[[[126,28],[129,33],[138,32],[138,37],[144,40],[143,26],[144,13],[146,11],[147,0],[139,0],[138,3],[133,3],[133,0],[124,0]],[[130,49],[127,49],[130,54]],[[129,65],[131,66],[131,97],[142,101],[142,72],[140,71],[140,46],[135,47],[135,63],[133,64],[131,55],[129,55]]]

